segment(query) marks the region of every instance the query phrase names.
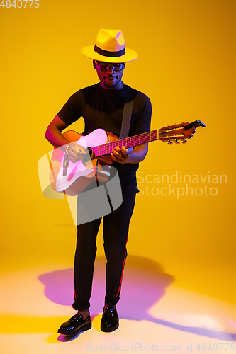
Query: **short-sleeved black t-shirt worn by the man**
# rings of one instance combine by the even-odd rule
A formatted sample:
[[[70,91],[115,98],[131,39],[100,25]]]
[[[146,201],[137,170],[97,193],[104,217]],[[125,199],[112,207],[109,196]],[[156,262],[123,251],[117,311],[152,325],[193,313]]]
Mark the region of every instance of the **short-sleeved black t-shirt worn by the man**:
[[[106,90],[102,88],[101,83],[85,87],[74,93],[57,114],[68,125],[83,117],[84,135],[102,128],[120,137],[127,88],[128,86],[124,85],[119,91]],[[133,90],[134,103],[129,137],[149,132],[152,114],[150,98],[140,91],[131,90]],[[137,193],[135,171],[138,169],[138,164],[113,162],[112,166],[118,170],[123,196]]]

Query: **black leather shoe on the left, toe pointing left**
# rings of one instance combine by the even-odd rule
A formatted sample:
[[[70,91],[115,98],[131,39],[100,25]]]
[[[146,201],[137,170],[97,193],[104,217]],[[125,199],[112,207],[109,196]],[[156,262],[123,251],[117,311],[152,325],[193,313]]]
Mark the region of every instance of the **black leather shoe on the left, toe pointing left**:
[[[83,319],[82,314],[78,313],[71,317],[67,322],[64,322],[58,329],[58,333],[66,334],[67,336],[75,336],[79,332],[91,329],[90,314],[86,319]]]

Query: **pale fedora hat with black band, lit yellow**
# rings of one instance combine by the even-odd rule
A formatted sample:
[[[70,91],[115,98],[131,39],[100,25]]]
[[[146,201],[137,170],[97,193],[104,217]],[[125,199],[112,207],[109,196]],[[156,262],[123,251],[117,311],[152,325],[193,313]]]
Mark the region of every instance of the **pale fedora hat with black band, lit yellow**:
[[[121,30],[99,30],[95,45],[82,48],[82,53],[94,60],[108,63],[131,62],[137,53],[125,48],[125,38]]]

